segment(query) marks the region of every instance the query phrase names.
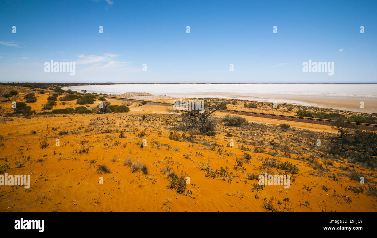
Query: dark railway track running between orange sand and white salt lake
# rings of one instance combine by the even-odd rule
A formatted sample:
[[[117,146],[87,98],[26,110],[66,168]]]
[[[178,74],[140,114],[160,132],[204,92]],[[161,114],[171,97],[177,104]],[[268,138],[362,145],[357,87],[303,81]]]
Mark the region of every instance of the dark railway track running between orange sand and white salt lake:
[[[90,94],[90,93],[87,93]],[[104,96],[105,98],[112,98],[118,99],[123,101],[130,101],[130,102],[142,102],[144,100],[138,99],[129,99],[129,98],[118,98],[113,96]],[[166,106],[173,106],[172,103],[167,102],[152,102],[147,101],[149,105],[166,105]],[[207,107],[208,108],[208,107]],[[310,117],[299,117],[299,116],[285,116],[285,115],[276,115],[276,114],[269,114],[269,113],[259,113],[259,112],[251,112],[251,111],[238,111],[238,110],[230,110],[230,109],[219,109],[218,111],[224,111],[232,114],[240,114],[246,116],[257,116],[257,117],[265,117],[271,119],[278,119],[278,120],[285,120],[285,121],[296,121],[296,122],[306,122],[311,124],[320,124],[320,125],[333,125],[337,121],[327,120],[327,119],[319,119],[319,118],[310,118]],[[348,124],[358,125],[362,129],[366,130],[377,130],[377,125],[374,124],[367,124],[367,123],[359,123],[359,122],[345,122]]]

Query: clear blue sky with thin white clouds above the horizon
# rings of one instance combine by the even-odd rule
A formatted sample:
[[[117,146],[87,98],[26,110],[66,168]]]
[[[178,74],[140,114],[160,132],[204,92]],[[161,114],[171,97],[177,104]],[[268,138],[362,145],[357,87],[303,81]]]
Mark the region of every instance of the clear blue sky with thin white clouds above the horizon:
[[[377,1],[2,0],[0,81],[377,83],[376,10]],[[76,62],[76,74],[45,73],[51,59]],[[309,59],[334,62],[334,75],[303,73]]]

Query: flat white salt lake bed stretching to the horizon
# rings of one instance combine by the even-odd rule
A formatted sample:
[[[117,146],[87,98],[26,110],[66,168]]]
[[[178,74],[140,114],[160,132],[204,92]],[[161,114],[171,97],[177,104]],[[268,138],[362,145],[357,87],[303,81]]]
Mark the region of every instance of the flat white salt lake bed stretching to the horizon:
[[[155,86],[153,86],[155,85]],[[169,86],[170,85],[170,86]],[[175,86],[174,86],[175,85]],[[181,85],[181,86],[179,86]],[[184,86],[186,85],[186,86]],[[196,86],[195,86],[196,85]],[[247,86],[248,85],[248,86]],[[280,85],[280,86],[279,86]],[[372,86],[374,85],[374,86]],[[311,107],[376,113],[376,84],[92,84],[62,87],[88,93],[122,95],[126,92],[150,93],[172,98],[223,98],[258,102],[278,102]],[[161,96],[163,95],[163,96]],[[147,99],[147,97],[141,99]],[[152,98],[148,98],[150,100]],[[360,108],[360,102],[365,108]]]

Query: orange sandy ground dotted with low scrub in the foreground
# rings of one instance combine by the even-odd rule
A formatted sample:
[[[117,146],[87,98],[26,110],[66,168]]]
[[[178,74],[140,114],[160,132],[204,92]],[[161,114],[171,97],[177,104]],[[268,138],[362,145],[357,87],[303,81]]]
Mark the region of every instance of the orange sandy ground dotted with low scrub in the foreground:
[[[25,90],[23,93],[28,92]],[[22,98],[23,93],[17,97]],[[37,94],[37,102],[28,105],[42,111],[41,107],[51,94]],[[272,201],[278,211],[284,210],[287,204],[292,206],[288,211],[375,211],[377,198],[366,192],[367,186],[376,182],[375,171],[342,159],[325,165],[325,160],[317,156],[318,153],[326,153],[326,138],[335,132],[331,127],[287,122],[291,128],[283,131],[276,124],[284,121],[245,116],[248,121],[265,126],[247,130],[220,126],[216,136],[196,137],[196,141],[208,140],[208,145],[205,145],[171,140],[170,127],[175,119],[166,114],[163,106],[139,106],[138,103],[116,99],[109,101],[127,104],[131,111],[33,115],[26,119],[5,117],[5,113],[12,111],[9,109],[11,105],[9,101],[0,102],[0,165],[10,165],[11,168],[5,171],[8,174],[31,175],[29,189],[0,186],[0,211],[268,211],[264,206],[267,201]],[[89,108],[95,107],[96,103],[98,101],[88,105]],[[58,101],[53,109],[77,106],[81,105],[75,104],[75,100],[66,105]],[[146,115],[145,120],[142,114]],[[223,115],[216,113],[218,117]],[[104,132],[106,129],[111,132]],[[124,130],[124,138],[120,138],[117,132],[121,129]],[[141,131],[147,134],[138,136]],[[227,133],[233,136],[227,137]],[[44,137],[49,145],[42,149],[39,139]],[[313,146],[318,137],[322,139],[321,148]],[[56,139],[60,140],[60,146],[56,146]],[[147,141],[143,148],[139,144],[142,139]],[[227,146],[230,139],[234,139],[233,147]],[[243,144],[243,140],[247,143]],[[277,154],[271,155],[273,151],[267,145],[277,141],[282,145],[293,142],[289,144],[294,145],[291,152],[284,154],[277,149]],[[213,143],[216,143],[215,150],[211,149]],[[246,151],[239,147],[241,145],[254,150],[262,148],[263,151]],[[80,152],[82,146],[87,146],[87,153]],[[250,154],[251,159],[244,161],[244,170],[234,169],[236,159],[243,157],[244,153]],[[130,166],[124,165],[129,157],[134,162],[143,162],[148,174],[132,172]],[[246,179],[248,174],[284,172],[276,168],[261,169],[266,158],[298,166],[299,172],[291,181],[290,188],[265,186],[259,191],[253,188],[258,181]],[[198,167],[208,159],[213,170],[219,171],[221,166],[227,166],[234,175],[233,179],[206,177]],[[17,167],[17,161],[25,164]],[[314,169],[311,161],[323,164],[325,169]],[[100,165],[106,165],[110,172],[98,172]],[[340,169],[340,166],[362,172],[369,182],[360,185],[351,180],[347,176],[349,172]],[[187,185],[187,189],[195,199],[167,188],[169,179],[163,172],[167,167],[176,174],[190,177],[191,184]],[[101,177],[103,184],[99,183]],[[322,185],[329,190],[325,191]],[[356,194],[346,189],[347,186],[362,187],[364,192]]]

